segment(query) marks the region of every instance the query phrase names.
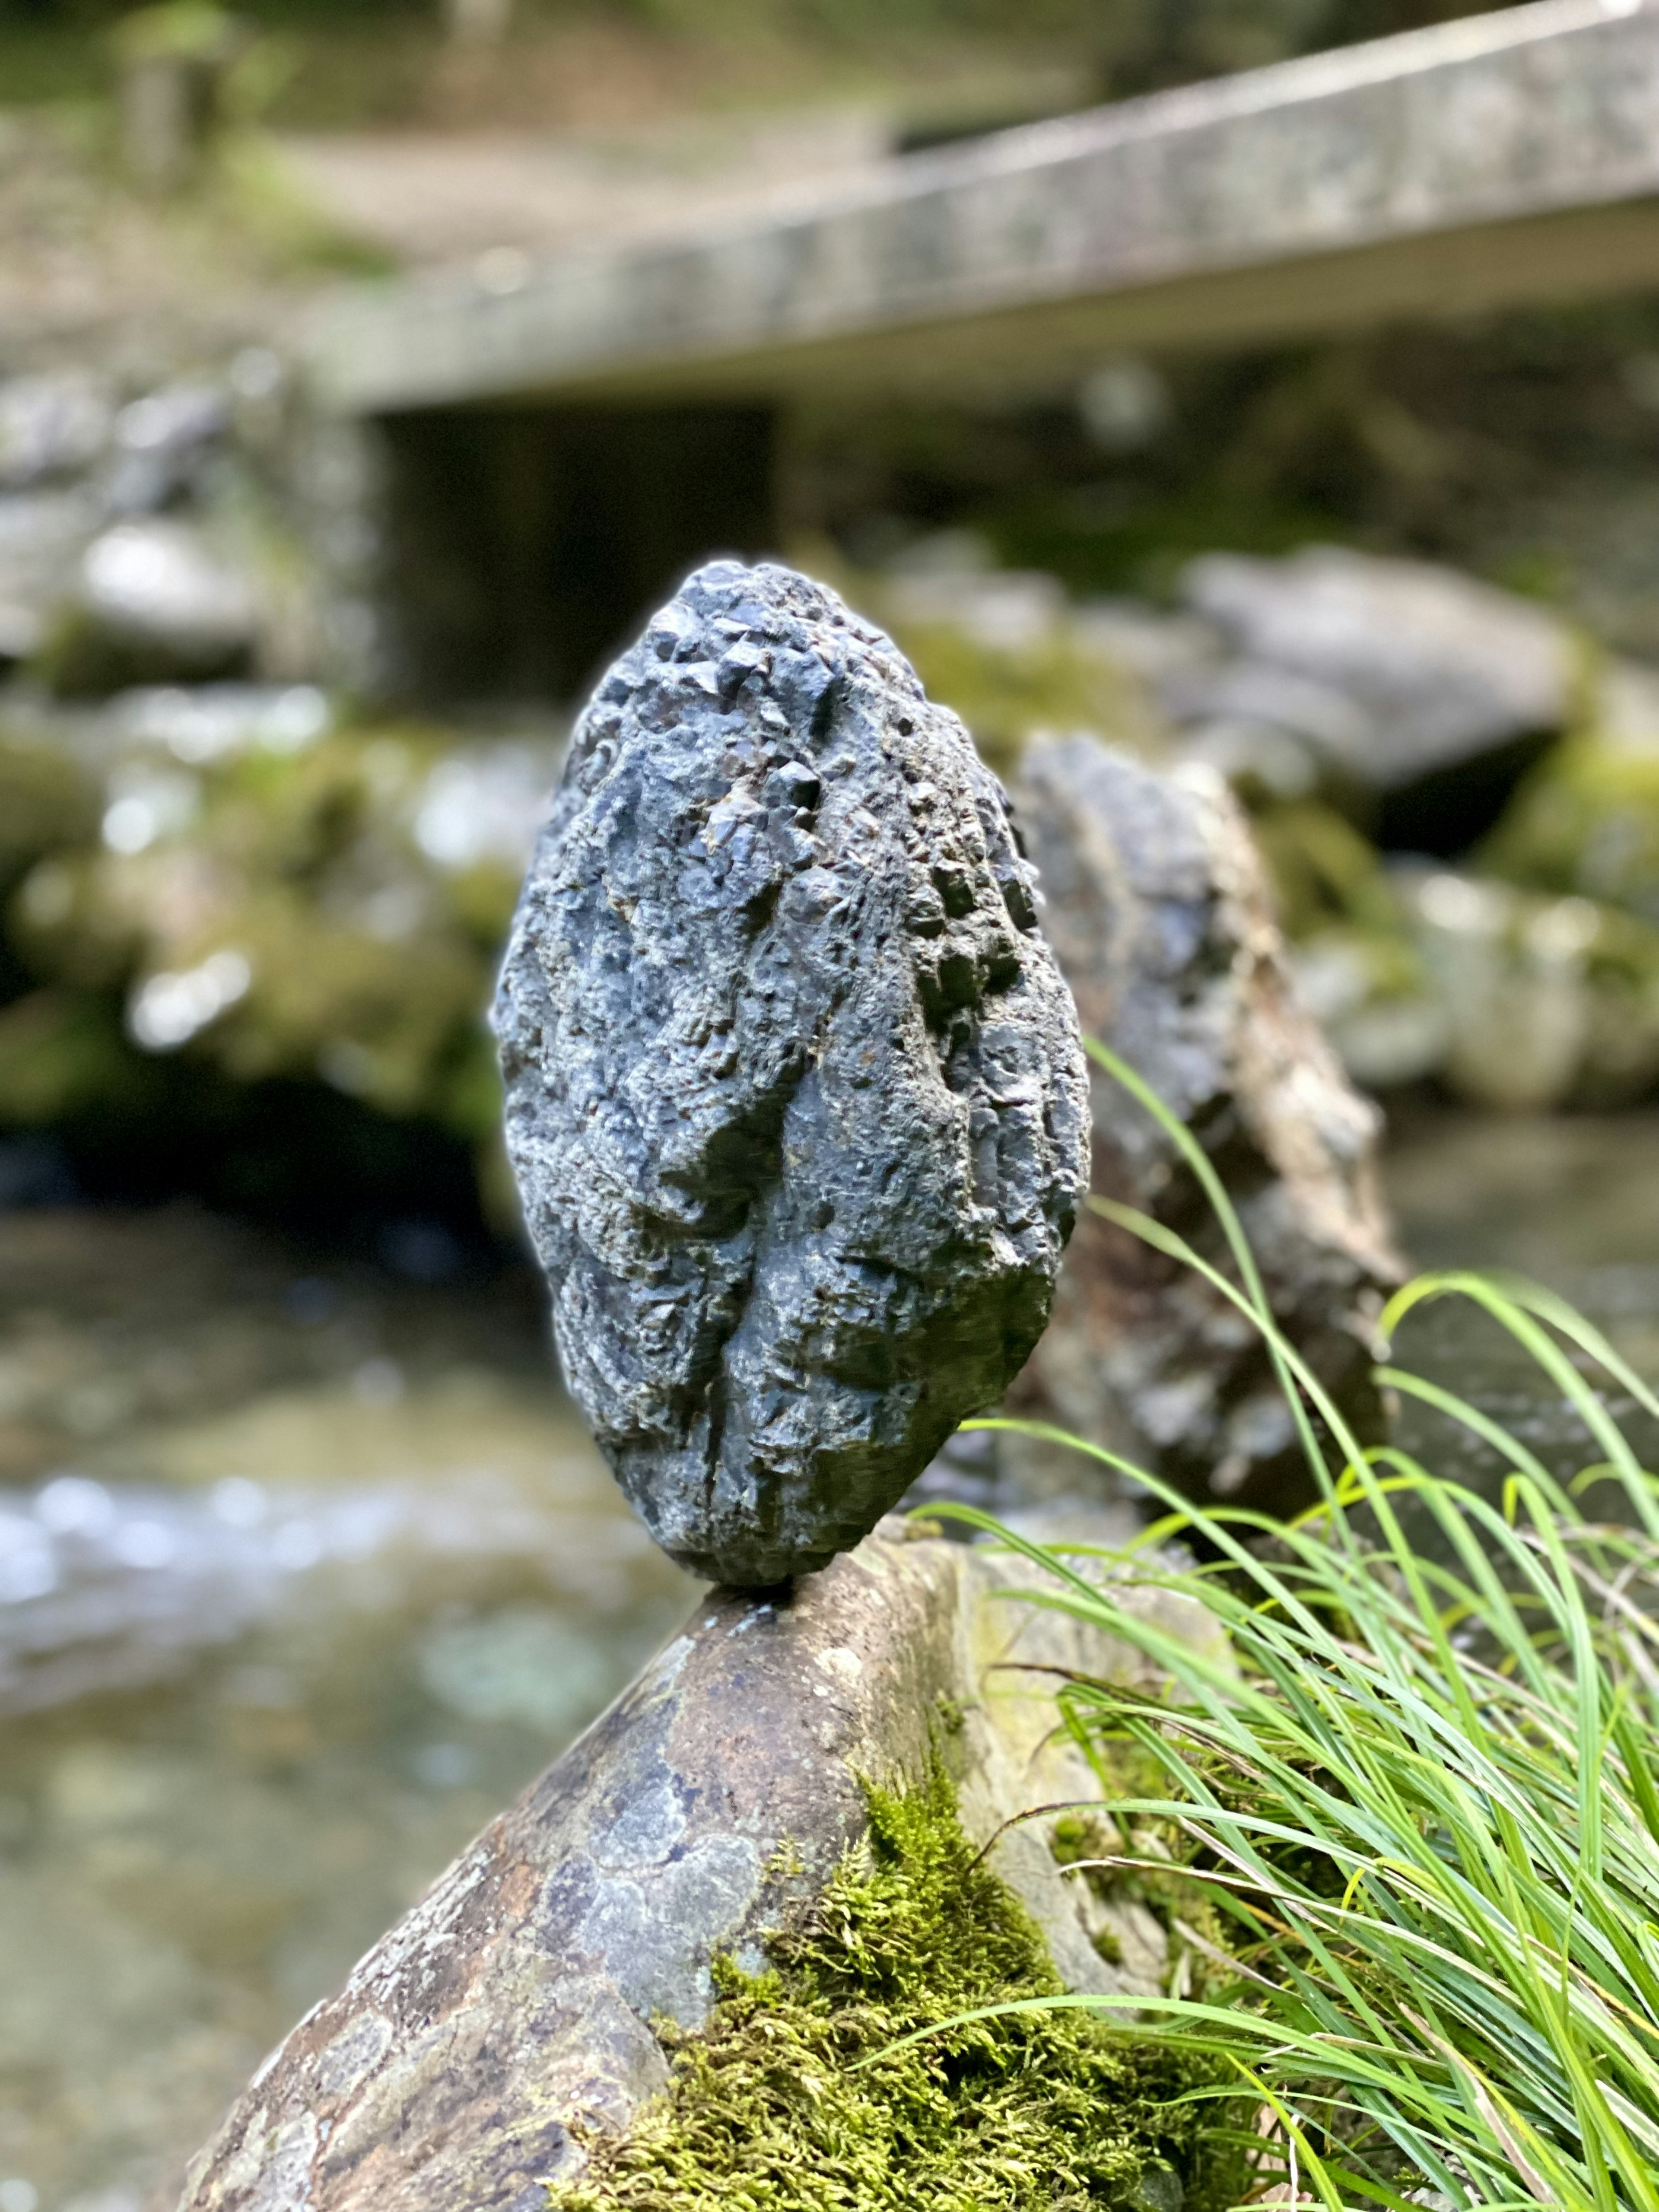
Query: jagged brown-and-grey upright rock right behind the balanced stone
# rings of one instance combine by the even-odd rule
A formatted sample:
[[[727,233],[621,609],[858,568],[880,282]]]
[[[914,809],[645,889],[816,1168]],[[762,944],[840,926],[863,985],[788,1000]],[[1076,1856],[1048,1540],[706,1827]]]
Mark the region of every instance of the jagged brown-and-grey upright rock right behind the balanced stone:
[[[1020,821],[1084,1031],[1197,1133],[1239,1206],[1281,1325],[1349,1420],[1380,1433],[1378,1292],[1398,1281],[1376,1108],[1290,984],[1239,805],[1201,768],[1157,774],[1075,737],[1026,752]],[[1168,1135],[1095,1075],[1095,1190],[1223,1243]],[[1310,1475],[1256,1334],[1201,1279],[1088,1217],[1009,1409],[1124,1451],[1188,1491],[1290,1511]],[[1013,1447],[1015,1455],[1022,1447]],[[1026,1480],[1077,1478],[1075,1455]]]

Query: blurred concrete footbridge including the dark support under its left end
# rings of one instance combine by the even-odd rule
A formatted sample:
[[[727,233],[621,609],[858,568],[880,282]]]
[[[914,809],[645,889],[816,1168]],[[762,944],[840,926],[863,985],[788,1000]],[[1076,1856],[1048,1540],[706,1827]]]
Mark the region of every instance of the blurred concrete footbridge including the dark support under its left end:
[[[385,425],[403,540],[449,529],[425,635],[449,606],[482,666],[540,577],[568,635],[533,681],[560,688],[684,560],[768,542],[772,425],[799,396],[973,403],[1060,389],[1124,347],[1655,285],[1659,0],[1537,0],[909,155],[495,290],[473,272],[365,288],[307,358],[325,407]],[[480,500],[511,513],[467,549],[456,518]]]

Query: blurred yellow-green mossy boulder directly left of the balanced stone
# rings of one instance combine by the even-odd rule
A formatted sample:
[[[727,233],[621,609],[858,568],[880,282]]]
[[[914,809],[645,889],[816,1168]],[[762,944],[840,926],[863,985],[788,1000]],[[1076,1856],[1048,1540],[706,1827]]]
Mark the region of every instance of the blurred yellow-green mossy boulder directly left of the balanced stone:
[[[137,765],[100,845],[29,872],[15,945],[49,987],[122,993],[139,1051],[241,1084],[319,1077],[484,1137],[478,1018],[515,876],[467,869],[451,900],[414,843],[445,750],[431,730],[349,730],[294,757]]]

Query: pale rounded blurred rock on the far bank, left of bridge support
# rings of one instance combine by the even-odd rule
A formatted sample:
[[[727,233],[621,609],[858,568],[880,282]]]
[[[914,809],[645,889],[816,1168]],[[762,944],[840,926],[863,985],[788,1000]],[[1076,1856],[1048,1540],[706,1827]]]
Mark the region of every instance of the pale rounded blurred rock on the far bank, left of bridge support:
[[[42,672],[64,695],[228,677],[248,666],[257,630],[250,580],[197,526],[119,522],[86,549]]]

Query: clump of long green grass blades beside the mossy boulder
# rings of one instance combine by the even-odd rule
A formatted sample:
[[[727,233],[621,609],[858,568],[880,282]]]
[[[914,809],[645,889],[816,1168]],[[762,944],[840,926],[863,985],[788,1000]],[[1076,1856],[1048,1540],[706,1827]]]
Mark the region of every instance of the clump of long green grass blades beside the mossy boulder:
[[[1141,1475],[1170,1511],[1135,1579],[1197,1599],[1228,1630],[1228,1663],[1130,1610],[1099,1566],[1004,1533],[1051,1568],[1048,1604],[1170,1681],[1159,1701],[1095,1681],[1060,1694],[1121,1843],[1095,1878],[1168,1874],[1135,1838],[1175,1836],[1181,1878],[1230,1927],[1232,1989],[1146,2011],[1252,2090],[1252,2201],[1659,2212],[1659,1493],[1577,1360],[1659,1402],[1551,1294],[1427,1276],[1385,1332],[1429,1298],[1480,1301],[1577,1405],[1595,1464],[1559,1484],[1489,1416],[1400,1369],[1383,1378],[1502,1453],[1502,1498],[1363,1451],[1274,1329],[1201,1148],[1095,1057],[1181,1144],[1239,1281],[1159,1223],[1115,1217],[1261,1327],[1323,1484],[1281,1526]],[[1199,1564],[1170,1566],[1177,1537]],[[1133,1798],[1113,1790],[1126,1743],[1159,1776]]]

